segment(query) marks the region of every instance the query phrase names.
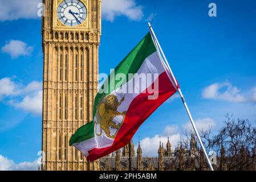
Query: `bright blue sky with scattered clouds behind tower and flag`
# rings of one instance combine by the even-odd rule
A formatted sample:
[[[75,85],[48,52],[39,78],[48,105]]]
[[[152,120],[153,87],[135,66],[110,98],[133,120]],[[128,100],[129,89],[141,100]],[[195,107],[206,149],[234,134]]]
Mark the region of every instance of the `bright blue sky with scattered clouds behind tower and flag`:
[[[38,2],[0,1],[0,169],[6,163],[8,169],[19,169],[25,161],[32,165],[41,150]],[[217,17],[208,15],[211,2]],[[226,113],[256,124],[255,7],[249,0],[156,1],[153,28],[199,128],[218,130]],[[100,73],[109,73],[147,34],[152,13],[153,1],[103,2]],[[175,145],[189,127],[182,102],[174,96],[133,140],[137,143],[140,135],[144,154],[156,155],[160,135],[162,142],[169,136]]]

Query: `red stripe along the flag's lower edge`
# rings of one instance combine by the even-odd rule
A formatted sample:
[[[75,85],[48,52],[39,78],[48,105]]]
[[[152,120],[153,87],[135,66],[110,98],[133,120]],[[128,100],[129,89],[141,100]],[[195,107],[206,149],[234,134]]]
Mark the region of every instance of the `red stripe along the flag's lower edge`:
[[[161,73],[157,79],[159,79],[158,98],[156,100],[148,100],[148,96],[153,95],[153,93],[149,93],[149,88],[152,88],[151,86],[147,88],[146,92],[141,93],[134,98],[127,110],[123,125],[120,127],[112,146],[93,148],[88,151],[88,162],[92,162],[105,155],[111,154],[111,152],[127,145],[137,129],[139,129],[140,125],[153,113],[153,111],[177,92],[176,88],[172,85],[172,82],[170,82],[166,72]],[[152,84],[152,86],[153,85],[154,84]]]

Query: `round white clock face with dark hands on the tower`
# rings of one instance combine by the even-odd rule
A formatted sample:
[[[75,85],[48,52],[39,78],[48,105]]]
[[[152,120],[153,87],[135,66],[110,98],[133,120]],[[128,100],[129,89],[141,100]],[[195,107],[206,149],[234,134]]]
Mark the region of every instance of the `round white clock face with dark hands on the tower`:
[[[78,0],[64,0],[57,9],[60,22],[66,26],[78,26],[82,24],[87,16],[87,9]]]

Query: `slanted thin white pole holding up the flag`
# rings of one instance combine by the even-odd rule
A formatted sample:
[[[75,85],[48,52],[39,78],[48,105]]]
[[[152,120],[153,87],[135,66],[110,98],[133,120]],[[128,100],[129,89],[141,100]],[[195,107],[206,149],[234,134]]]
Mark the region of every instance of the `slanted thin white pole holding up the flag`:
[[[210,168],[212,171],[214,171],[214,169],[213,169],[213,167],[212,167],[212,164],[210,163],[209,156],[208,156],[208,154],[207,154],[207,152],[206,152],[206,150],[205,150],[204,144],[202,143],[201,137],[200,137],[200,135],[199,135],[199,133],[198,133],[198,131],[197,131],[197,127],[196,127],[196,125],[194,124],[194,120],[193,120],[193,118],[192,118],[192,115],[190,114],[188,105],[186,104],[185,98],[184,98],[184,96],[183,96],[183,94],[182,94],[182,92],[181,92],[181,89],[178,88],[178,84],[177,84],[176,78],[174,77],[173,72],[172,72],[172,69],[170,69],[170,65],[169,65],[169,63],[168,63],[168,61],[167,61],[167,59],[166,59],[166,57],[165,57],[165,55],[164,55],[164,51],[162,51],[162,48],[161,48],[161,46],[160,46],[160,43],[159,43],[159,41],[158,41],[157,38],[156,38],[156,34],[155,34],[155,32],[153,31],[153,28],[152,28],[152,26],[151,26],[151,24],[150,24],[149,22],[148,22],[148,26],[149,26],[149,30],[151,31],[151,35],[153,36],[154,42],[156,43],[157,47],[160,49],[160,52],[161,52],[160,57],[162,56],[161,58],[164,58],[164,61],[165,61],[166,65],[167,65],[167,67],[168,67],[168,69],[169,69],[169,72],[170,72],[172,81],[173,81],[174,84],[175,84],[174,86],[176,87],[176,89],[178,90],[178,93],[180,94],[181,100],[182,100],[182,102],[183,102],[183,104],[184,104],[184,106],[185,106],[185,109],[186,109],[186,113],[188,113],[190,122],[192,123],[193,129],[194,129],[194,131],[195,131],[195,133],[196,133],[196,135],[197,135],[197,138],[198,138],[198,140],[199,140],[199,142],[200,142],[201,148],[202,148],[202,150],[204,151],[204,154],[205,154],[205,157],[206,157],[208,166],[209,166],[209,168]]]

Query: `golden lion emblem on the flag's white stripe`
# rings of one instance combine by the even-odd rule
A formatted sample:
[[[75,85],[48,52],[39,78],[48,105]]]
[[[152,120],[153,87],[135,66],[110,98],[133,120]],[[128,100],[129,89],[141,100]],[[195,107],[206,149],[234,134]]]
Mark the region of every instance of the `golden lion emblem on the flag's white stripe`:
[[[110,127],[113,129],[116,129],[117,131],[121,127],[121,123],[116,125],[116,123],[113,121],[113,118],[115,118],[118,115],[124,115],[126,114],[126,111],[123,113],[120,113],[117,111],[117,108],[121,105],[121,103],[124,101],[124,97],[121,97],[120,102],[118,101],[117,97],[115,95],[109,95],[105,99],[105,102],[101,103],[98,107],[99,109],[99,115],[100,115],[100,134],[97,134],[97,129],[95,129],[95,133],[97,136],[100,136],[102,134],[102,130],[105,131],[107,137],[109,138],[115,138],[115,135],[110,134]],[[99,122],[95,122],[96,126],[99,124]],[[95,126],[95,127],[96,127]]]

